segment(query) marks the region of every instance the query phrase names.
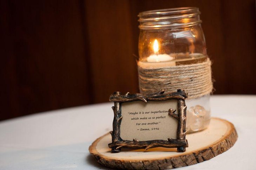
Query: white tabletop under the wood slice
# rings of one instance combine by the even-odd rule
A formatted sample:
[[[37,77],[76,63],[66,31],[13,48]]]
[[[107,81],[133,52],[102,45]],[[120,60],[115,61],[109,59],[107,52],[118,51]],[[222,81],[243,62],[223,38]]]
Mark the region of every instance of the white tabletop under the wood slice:
[[[0,169],[107,169],[88,148],[112,130],[112,106],[94,104],[1,121]],[[180,169],[256,169],[255,107],[256,95],[211,96],[212,116],[232,122],[238,140],[227,152]]]

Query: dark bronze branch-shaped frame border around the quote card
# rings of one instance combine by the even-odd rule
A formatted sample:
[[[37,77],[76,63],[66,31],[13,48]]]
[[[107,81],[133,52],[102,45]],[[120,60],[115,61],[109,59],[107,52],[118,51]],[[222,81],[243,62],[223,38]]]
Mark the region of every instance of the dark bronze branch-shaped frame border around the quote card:
[[[114,102],[112,107],[114,111],[113,131],[110,131],[112,136],[112,143],[108,144],[108,147],[112,149],[112,152],[120,152],[122,148],[135,148],[135,149],[149,149],[155,147],[177,148],[178,152],[186,151],[188,147],[188,141],[186,140],[186,110],[185,99],[188,94],[184,90],[178,89],[176,93],[164,94],[164,90],[160,90],[158,93],[153,94],[130,94],[121,95],[120,92],[115,92],[109,97],[109,101]],[[133,141],[122,140],[120,137],[120,125],[122,120],[121,104],[124,102],[143,101],[166,101],[177,100],[178,113],[176,110],[169,109],[169,115],[175,118],[178,122],[177,127],[177,139],[168,138],[167,140],[151,140],[151,141],[139,141],[133,139]]]

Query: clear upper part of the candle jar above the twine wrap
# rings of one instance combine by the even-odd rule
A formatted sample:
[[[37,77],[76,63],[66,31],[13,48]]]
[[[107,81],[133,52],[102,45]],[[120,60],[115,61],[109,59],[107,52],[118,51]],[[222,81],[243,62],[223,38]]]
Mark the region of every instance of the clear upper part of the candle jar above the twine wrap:
[[[139,60],[153,55],[165,56],[151,62],[201,60],[207,53],[199,14],[193,7],[140,13]]]

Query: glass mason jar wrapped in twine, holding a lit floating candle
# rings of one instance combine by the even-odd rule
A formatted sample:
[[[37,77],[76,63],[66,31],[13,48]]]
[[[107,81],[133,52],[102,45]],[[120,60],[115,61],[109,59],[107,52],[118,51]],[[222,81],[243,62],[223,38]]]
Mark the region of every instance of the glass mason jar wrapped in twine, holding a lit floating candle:
[[[140,93],[188,93],[188,132],[210,122],[211,63],[196,7],[170,8],[139,13]]]

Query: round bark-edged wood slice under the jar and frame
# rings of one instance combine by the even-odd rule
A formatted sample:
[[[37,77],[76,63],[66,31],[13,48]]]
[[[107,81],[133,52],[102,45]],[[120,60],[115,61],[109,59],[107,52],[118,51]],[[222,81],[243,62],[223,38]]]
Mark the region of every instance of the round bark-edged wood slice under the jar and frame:
[[[98,163],[114,169],[173,169],[207,161],[230,149],[237,140],[232,123],[212,118],[206,130],[186,136],[189,147],[186,152],[176,148],[122,149],[111,153],[108,143],[111,135],[101,136],[89,147]]]

